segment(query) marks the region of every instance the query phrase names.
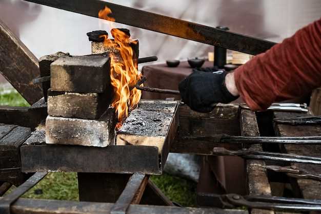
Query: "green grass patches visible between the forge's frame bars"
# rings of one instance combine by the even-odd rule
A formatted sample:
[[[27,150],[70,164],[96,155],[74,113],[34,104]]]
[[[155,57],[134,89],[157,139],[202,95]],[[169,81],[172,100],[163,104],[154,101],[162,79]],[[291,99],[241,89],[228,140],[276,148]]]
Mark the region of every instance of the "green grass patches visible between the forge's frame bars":
[[[0,90],[0,105],[29,106],[16,91]],[[58,157],[57,157],[58,158]],[[151,180],[172,201],[183,206],[195,206],[196,183],[168,174],[151,176]],[[14,187],[11,188],[11,190]],[[78,182],[76,173],[49,173],[41,182],[30,189],[24,198],[77,201]]]

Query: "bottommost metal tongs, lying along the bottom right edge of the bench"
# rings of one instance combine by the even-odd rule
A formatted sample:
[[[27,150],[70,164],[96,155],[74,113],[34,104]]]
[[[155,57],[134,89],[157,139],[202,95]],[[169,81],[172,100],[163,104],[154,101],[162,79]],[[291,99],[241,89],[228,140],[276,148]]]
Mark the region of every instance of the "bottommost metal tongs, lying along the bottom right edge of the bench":
[[[275,196],[240,196],[237,194],[198,194],[200,200],[209,201],[220,208],[237,208],[246,206],[255,209],[288,211],[321,211],[321,200],[284,198]]]

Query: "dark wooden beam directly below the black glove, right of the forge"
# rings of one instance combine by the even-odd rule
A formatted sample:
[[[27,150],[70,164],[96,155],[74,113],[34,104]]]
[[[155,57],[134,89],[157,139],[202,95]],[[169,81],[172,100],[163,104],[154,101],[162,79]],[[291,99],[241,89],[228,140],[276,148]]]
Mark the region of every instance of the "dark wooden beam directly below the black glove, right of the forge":
[[[187,105],[179,105],[179,127],[172,153],[210,155],[214,147],[240,149],[241,145],[212,143],[201,140],[186,140],[185,137],[204,135],[239,135],[239,108],[236,104],[218,104],[210,113],[192,111]]]

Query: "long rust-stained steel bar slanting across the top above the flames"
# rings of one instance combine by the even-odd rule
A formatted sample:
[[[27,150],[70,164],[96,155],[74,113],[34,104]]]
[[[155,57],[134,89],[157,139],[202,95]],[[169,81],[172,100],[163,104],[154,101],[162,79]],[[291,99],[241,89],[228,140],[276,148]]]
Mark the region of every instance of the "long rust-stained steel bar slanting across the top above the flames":
[[[37,4],[81,13],[98,18],[98,12],[105,7],[111,9],[115,22],[165,33],[180,38],[203,42],[234,51],[256,55],[269,50],[274,42],[245,36],[230,31],[199,25],[177,18],[124,7],[99,0],[25,0]],[[108,17],[105,17],[107,19]]]

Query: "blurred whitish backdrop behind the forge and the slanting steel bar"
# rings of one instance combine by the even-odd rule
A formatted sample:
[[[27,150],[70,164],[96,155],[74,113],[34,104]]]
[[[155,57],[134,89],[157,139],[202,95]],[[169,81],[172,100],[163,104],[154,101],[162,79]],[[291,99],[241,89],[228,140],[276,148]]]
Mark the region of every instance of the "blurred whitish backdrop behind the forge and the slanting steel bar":
[[[321,15],[320,0],[113,0],[139,8],[231,31],[281,41]],[[90,0],[88,0],[90,4]],[[98,11],[97,11],[98,12]],[[39,58],[57,51],[90,54],[86,33],[107,30],[105,20],[39,6],[22,0],[0,0],[0,19]],[[139,17],[137,17],[139,19]],[[159,61],[206,56],[211,46],[160,33],[126,27],[139,39],[140,57],[157,55]]]

